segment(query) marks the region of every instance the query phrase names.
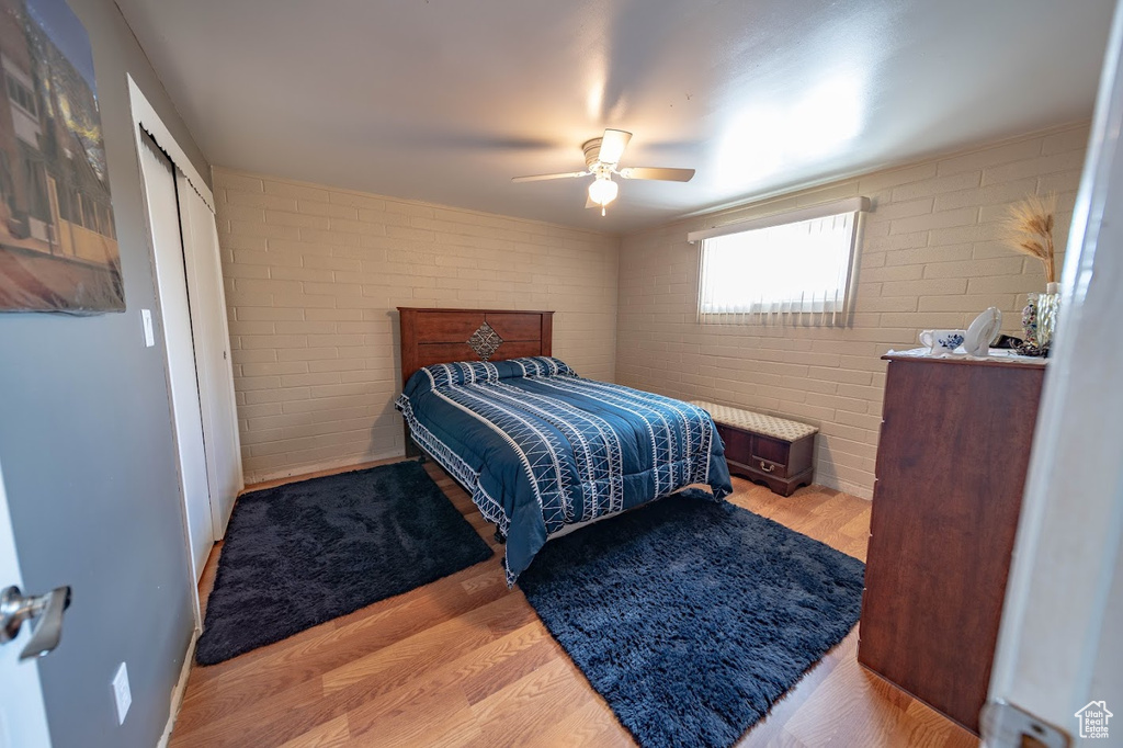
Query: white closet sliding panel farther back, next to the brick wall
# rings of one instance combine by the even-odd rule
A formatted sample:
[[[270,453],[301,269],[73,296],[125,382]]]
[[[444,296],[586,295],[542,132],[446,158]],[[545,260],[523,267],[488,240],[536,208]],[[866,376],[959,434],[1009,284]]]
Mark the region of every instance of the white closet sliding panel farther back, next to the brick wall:
[[[226,318],[226,294],[222,290],[214,215],[179,170],[176,183],[180,225],[186,249],[184,256],[195,370],[199,375],[207,444],[211,522],[214,539],[218,540],[226,533],[234,500],[244,486],[237,407],[234,400],[234,368],[230,363],[230,332]]]

